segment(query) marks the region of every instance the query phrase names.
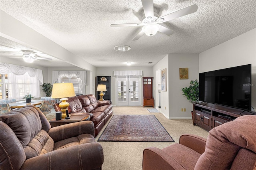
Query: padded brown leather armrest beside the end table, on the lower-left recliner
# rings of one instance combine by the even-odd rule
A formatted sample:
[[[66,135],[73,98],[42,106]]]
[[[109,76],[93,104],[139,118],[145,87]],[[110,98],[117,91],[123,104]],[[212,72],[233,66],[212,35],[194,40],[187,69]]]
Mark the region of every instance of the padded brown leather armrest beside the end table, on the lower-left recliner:
[[[80,121],[76,123],[69,123],[58,127],[50,128],[48,134],[58,142],[66,138],[76,137],[80,134],[92,134],[94,136],[94,124],[92,121]]]

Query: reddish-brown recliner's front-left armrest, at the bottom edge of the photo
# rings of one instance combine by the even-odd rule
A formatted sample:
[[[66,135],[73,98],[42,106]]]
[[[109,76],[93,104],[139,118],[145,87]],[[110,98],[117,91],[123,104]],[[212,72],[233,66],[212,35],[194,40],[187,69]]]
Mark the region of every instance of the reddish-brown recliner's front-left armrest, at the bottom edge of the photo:
[[[143,170],[182,170],[185,168],[180,165],[171,156],[166,154],[166,152],[160,150],[159,148],[149,147],[143,151],[142,160]]]

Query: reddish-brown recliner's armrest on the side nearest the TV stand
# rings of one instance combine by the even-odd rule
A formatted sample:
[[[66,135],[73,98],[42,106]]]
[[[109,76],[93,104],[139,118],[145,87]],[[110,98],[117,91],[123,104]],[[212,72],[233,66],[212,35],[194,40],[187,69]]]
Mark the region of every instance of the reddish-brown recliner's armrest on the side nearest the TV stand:
[[[205,150],[206,138],[194,134],[183,134],[180,136],[180,144],[202,154]]]

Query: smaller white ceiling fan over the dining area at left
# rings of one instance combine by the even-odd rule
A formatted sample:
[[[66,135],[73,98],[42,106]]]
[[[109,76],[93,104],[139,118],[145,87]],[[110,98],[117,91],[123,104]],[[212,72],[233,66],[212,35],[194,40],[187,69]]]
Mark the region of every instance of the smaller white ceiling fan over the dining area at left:
[[[29,51],[29,50],[21,50],[22,52],[4,52],[4,53],[9,53],[13,55],[19,55],[20,57],[10,57],[10,58],[23,58],[24,61],[27,63],[32,63],[35,60],[52,60],[51,58],[45,58],[45,57],[40,57],[38,56],[34,51]]]

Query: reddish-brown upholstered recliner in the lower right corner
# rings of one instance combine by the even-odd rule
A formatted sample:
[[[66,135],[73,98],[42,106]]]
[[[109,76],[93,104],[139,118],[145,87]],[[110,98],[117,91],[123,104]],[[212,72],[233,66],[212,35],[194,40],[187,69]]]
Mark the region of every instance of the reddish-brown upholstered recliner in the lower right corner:
[[[143,170],[256,170],[256,116],[245,115],[210,130],[185,134],[180,144],[146,148]]]

